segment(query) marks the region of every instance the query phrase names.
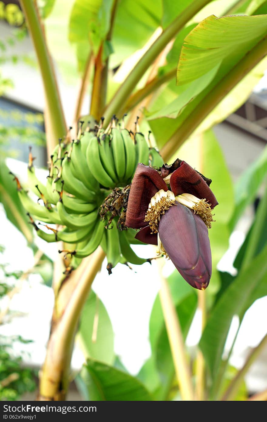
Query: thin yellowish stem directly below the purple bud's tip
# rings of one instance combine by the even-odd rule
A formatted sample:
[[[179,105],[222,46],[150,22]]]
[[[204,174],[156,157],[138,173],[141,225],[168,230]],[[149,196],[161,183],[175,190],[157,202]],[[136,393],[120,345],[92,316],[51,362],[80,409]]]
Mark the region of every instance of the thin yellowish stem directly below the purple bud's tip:
[[[206,319],[206,292],[197,290],[198,308],[201,311],[201,332],[203,332]],[[205,400],[205,360],[201,350],[197,352],[196,362],[196,399]]]

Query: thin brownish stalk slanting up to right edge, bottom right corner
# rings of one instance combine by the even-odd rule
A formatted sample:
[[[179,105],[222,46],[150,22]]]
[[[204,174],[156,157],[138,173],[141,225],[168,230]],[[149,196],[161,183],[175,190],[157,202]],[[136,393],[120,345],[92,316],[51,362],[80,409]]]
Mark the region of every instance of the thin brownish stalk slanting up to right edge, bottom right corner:
[[[235,378],[230,383],[221,400],[233,400],[235,398],[235,395],[238,392],[238,389],[244,379],[245,374],[248,372],[248,369],[251,367],[252,363],[259,356],[259,354],[262,352],[266,345],[267,334],[264,336],[260,344],[251,351],[243,367],[240,369],[240,371],[237,372]]]

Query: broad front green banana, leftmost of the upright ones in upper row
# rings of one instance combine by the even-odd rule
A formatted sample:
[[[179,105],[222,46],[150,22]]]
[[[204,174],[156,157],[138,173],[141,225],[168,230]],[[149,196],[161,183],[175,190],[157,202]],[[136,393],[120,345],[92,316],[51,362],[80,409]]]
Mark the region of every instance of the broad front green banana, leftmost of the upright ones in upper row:
[[[102,186],[113,189],[116,184],[102,166],[99,151],[99,139],[97,136],[94,136],[89,141],[89,145],[86,150],[86,160],[91,173],[97,181]]]

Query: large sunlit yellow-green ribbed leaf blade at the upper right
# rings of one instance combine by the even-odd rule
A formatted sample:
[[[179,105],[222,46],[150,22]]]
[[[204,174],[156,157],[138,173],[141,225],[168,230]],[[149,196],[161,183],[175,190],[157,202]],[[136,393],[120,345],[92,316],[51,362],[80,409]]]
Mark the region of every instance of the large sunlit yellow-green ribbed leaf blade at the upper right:
[[[212,95],[214,88],[219,86],[246,54],[253,51],[266,34],[265,15],[226,16],[219,19],[209,16],[186,36],[178,63],[178,94],[183,94],[187,103],[184,104],[178,97],[148,117],[156,139],[160,140],[159,146],[178,130],[189,115],[194,116],[201,107],[202,99]],[[215,76],[207,86],[204,76],[212,70]],[[189,91],[189,82],[195,84],[197,81],[198,94],[194,96]],[[177,117],[171,120],[164,117],[170,115]]]

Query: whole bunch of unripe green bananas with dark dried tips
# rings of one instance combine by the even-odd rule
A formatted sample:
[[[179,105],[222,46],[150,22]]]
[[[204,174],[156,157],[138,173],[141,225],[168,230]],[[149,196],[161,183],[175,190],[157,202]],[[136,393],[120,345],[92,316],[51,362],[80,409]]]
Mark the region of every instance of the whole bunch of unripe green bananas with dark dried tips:
[[[98,245],[107,254],[109,273],[118,262],[140,265],[149,261],[131,248],[132,243],[139,242],[134,238],[135,230],[121,225],[126,210],[120,198],[138,163],[155,168],[163,165],[159,152],[149,148],[142,133],[130,133],[124,124],[116,124],[115,118],[107,130],[102,122],[94,129],[89,125],[84,128],[81,122],[76,140],[68,138],[59,140],[49,159],[46,184],[35,175],[30,149],[28,186],[38,196],[37,202],[15,177],[20,200],[38,236],[67,244],[59,252],[70,256],[71,269]],[[108,197],[116,198],[115,213],[105,205]]]

